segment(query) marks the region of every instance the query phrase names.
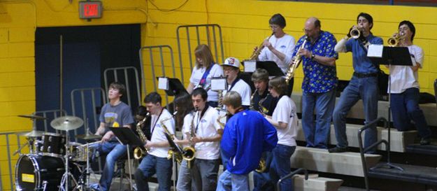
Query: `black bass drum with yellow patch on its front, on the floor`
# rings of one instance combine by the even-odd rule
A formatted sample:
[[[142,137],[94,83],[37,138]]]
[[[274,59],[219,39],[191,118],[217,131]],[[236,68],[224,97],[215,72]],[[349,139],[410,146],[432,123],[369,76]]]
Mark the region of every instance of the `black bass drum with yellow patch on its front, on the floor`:
[[[15,165],[16,190],[58,190],[64,168],[59,157],[21,155]]]

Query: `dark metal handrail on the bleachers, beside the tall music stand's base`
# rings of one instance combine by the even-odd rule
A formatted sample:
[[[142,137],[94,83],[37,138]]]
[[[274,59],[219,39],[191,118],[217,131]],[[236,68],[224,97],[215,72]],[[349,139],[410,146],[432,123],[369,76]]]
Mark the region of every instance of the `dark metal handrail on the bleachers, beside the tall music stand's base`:
[[[375,123],[380,122],[380,121],[384,122],[384,128],[387,128],[387,120],[383,117],[380,117],[376,120],[368,122],[366,125],[364,125],[364,127],[361,127],[358,130],[359,155],[361,156],[361,163],[363,164],[364,183],[366,184],[366,190],[369,190],[369,188],[368,188],[368,175],[367,175],[368,169],[367,169],[366,158],[364,157],[364,153],[366,153],[368,150],[371,150],[372,148],[375,148],[380,143],[385,143],[385,149],[387,150],[387,155],[390,155],[389,142],[387,142],[385,139],[381,139],[380,141],[373,143],[371,146],[368,146],[368,148],[363,148],[363,139],[361,138],[361,134],[366,129],[373,127],[373,125],[375,125]]]

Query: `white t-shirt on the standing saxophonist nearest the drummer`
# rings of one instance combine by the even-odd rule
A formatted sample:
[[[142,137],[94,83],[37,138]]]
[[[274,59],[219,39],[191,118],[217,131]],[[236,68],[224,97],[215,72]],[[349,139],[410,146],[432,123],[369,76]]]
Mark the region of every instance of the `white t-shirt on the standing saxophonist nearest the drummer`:
[[[164,134],[164,128],[161,126],[161,121],[168,118],[171,118],[171,120],[166,120],[164,125],[167,127],[167,129],[169,129],[170,134],[175,134],[175,120],[173,119],[173,115],[171,115],[171,113],[164,108],[159,118],[158,115],[151,116],[152,123],[150,125],[150,132],[152,132],[152,139],[150,141],[168,141]],[[155,125],[155,128],[153,128],[153,125]],[[154,155],[155,157],[167,157],[167,153],[169,153],[169,147],[152,147],[149,149],[149,155]]]

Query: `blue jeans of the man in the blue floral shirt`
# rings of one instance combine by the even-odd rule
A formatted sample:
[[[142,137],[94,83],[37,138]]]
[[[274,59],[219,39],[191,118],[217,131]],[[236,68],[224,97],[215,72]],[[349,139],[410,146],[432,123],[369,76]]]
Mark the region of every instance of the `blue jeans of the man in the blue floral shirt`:
[[[324,93],[302,93],[302,129],[307,147],[328,148],[335,104],[336,90]]]

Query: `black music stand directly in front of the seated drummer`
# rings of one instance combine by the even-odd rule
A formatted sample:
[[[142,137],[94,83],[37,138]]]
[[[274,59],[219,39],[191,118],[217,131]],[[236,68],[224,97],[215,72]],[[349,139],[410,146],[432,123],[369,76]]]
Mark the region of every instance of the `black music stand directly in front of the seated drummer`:
[[[130,156],[130,146],[143,146],[140,139],[132,132],[128,127],[109,127],[109,129],[115,134],[117,140],[122,144],[127,146],[127,165],[129,166],[129,185],[132,188],[132,171],[131,171],[131,156]],[[123,176],[123,175],[121,175]],[[121,184],[121,183],[120,183]]]

